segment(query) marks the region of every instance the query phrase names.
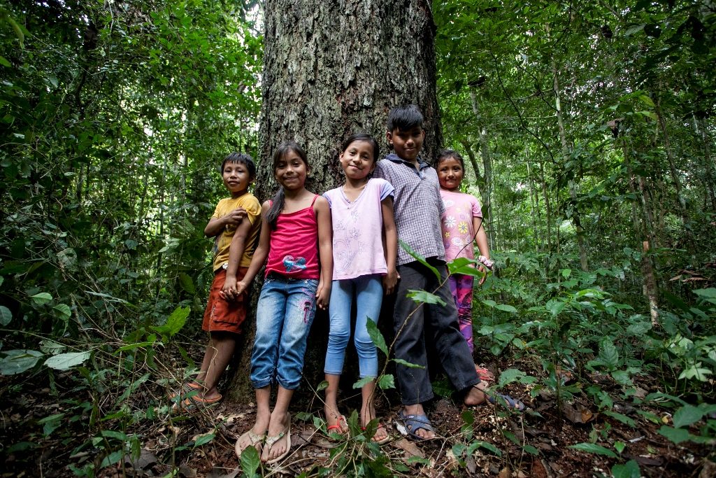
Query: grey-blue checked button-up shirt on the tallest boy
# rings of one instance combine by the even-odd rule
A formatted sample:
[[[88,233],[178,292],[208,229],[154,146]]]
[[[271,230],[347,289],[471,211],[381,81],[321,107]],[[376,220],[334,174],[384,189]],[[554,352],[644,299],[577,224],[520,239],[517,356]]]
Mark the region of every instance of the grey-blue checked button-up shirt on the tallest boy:
[[[420,167],[389,154],[373,171],[375,178],[384,178],[395,188],[395,227],[398,239],[410,245],[422,257],[445,260],[440,217],[444,207],[440,199],[437,171],[418,158]],[[415,259],[398,247],[397,265]]]

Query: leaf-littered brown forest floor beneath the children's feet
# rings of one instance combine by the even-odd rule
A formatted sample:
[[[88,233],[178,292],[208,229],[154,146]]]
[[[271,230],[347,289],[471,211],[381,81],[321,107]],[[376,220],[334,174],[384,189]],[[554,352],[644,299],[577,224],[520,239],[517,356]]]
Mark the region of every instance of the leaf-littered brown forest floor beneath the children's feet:
[[[497,371],[492,365],[495,364],[488,364],[493,371]],[[536,363],[500,365],[503,368],[507,368],[505,365],[519,368],[533,376],[541,373]],[[586,379],[599,384],[602,390],[609,391],[611,388],[612,396],[619,396],[619,386],[612,383],[608,376],[594,374]],[[582,382],[581,388],[589,386],[589,383],[584,383],[585,378]],[[654,382],[649,378],[635,377],[637,394],[657,391]],[[63,389],[62,377],[56,378],[53,386]],[[396,417],[400,405],[395,400],[396,396],[380,396],[377,411],[392,436],[392,441],[380,448],[382,454],[390,459],[387,476],[609,477],[615,464],[624,464],[629,460],[637,462],[642,476],[646,477],[716,476],[716,465],[706,458],[713,453],[713,449],[690,442],[677,446],[657,433],[659,426],[669,423],[669,414],[662,409],[639,406],[637,410],[631,403],[615,401],[614,410],[619,411],[622,421],[629,421],[624,420],[624,416],[632,421],[627,424],[598,413],[581,392],[576,393],[571,401],[563,401],[558,406],[554,397],[544,393],[528,398],[531,396],[528,387],[512,383],[504,390],[523,398],[528,410],[521,414],[499,411],[493,406],[465,408],[455,405],[450,398],[433,401],[426,407],[427,414],[441,436],[440,439],[422,443],[406,439],[397,430]],[[94,463],[92,468],[97,470],[95,476],[98,477],[240,476],[241,465],[233,446],[236,438],[253,425],[256,411],[254,403],[225,400],[212,408],[180,414],[171,419],[158,413],[153,420],[145,419],[131,429],[125,429],[127,434],[136,434],[139,439],[135,442],[138,457],[127,455],[116,464],[102,467],[101,460],[107,456],[107,449],[103,449],[99,441],[93,442],[95,448],[89,446],[77,451],[82,441],[92,439],[92,435],[87,434],[86,423],[82,426],[90,417],[63,416],[56,429],[47,429],[47,424],[54,422],[42,420],[52,414],[63,413],[67,403],[76,403],[71,399],[73,394],[86,391],[64,388],[58,397],[50,393],[49,386],[33,380],[18,382],[11,377],[0,378],[0,390],[4,436],[1,477],[77,476],[70,464],[82,469],[90,463]],[[138,390],[132,397],[141,400],[143,396],[147,400],[150,393],[150,390]],[[393,400],[395,402],[390,403]],[[359,406],[359,396],[343,397],[340,406],[348,415],[347,412]],[[474,416],[472,426],[465,425],[465,411],[471,411]],[[330,451],[340,443],[330,440],[314,425],[314,417],[322,416],[320,399],[310,391],[301,391],[294,397],[291,412],[294,416],[291,454],[278,464],[264,466],[263,476],[296,476],[304,472],[316,475],[321,467],[332,470],[326,470],[324,476],[333,476],[339,457],[332,457]],[[111,429],[110,423],[98,426]],[[215,434],[213,440],[201,446],[192,445],[203,434],[211,433]],[[113,436],[109,435],[105,436],[107,444]],[[480,446],[467,457],[465,454],[455,457],[453,450],[460,453],[460,446],[454,448],[455,444],[470,446],[480,440],[488,442],[488,446]],[[569,448],[570,445],[593,442],[611,450],[615,449],[615,444],[617,448],[624,444],[624,449],[621,453],[614,451],[618,455],[614,459]],[[493,446],[492,451],[489,444]],[[364,446],[347,446],[342,449],[342,454],[356,467],[362,460],[370,459]],[[394,464],[398,466],[394,467]],[[261,476],[261,469],[258,473]]]

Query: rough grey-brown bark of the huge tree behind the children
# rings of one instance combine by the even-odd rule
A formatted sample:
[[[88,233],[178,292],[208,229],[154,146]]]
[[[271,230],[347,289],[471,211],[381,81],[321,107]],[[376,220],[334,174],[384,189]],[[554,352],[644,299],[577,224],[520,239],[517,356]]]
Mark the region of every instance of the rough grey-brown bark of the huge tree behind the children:
[[[423,155],[434,161],[442,143],[435,93],[435,24],[430,2],[269,0],[265,3],[263,105],[256,196],[276,190],[271,155],[284,140],[302,145],[311,164],[306,187],[322,193],[341,182],[339,145],[348,135],[374,135],[385,151],[391,107],[415,103],[425,115]],[[258,297],[254,286],[253,300]],[[234,362],[231,398],[248,397],[248,321]],[[316,317],[304,377],[322,380],[326,320]]]

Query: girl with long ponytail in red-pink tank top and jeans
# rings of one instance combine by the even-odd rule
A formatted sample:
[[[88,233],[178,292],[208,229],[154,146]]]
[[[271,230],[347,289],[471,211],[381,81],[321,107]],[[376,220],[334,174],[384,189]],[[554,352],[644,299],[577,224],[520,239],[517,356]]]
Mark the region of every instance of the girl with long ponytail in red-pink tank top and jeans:
[[[236,441],[236,454],[248,446],[261,461],[275,463],[291,451],[289,404],[301,382],[306,338],[316,305],[328,307],[333,275],[331,211],[328,201],[306,190],[309,163],[303,148],[287,141],[274,152],[274,177],[281,188],[261,207],[261,236],[246,276],[245,290],[266,264],[256,305],[256,339],[251,383],[256,388],[256,423]],[[278,385],[271,410],[271,385]]]

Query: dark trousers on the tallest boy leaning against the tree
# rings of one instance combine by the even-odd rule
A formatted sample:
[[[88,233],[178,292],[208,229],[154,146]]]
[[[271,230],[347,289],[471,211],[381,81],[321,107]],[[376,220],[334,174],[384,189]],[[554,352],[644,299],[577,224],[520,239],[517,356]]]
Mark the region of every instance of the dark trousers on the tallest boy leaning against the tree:
[[[428,259],[428,262],[440,272],[439,281],[435,274],[420,262],[409,262],[397,267],[400,281],[393,310],[395,357],[422,365],[422,368],[411,368],[397,364],[398,386],[404,405],[422,403],[433,396],[427,370],[426,340],[430,341],[431,348],[437,353],[437,359],[455,389],[464,391],[480,383],[475,372],[473,355],[460,333],[458,310],[450,293],[445,262],[433,258]],[[440,297],[445,305],[419,304],[406,297],[410,290],[431,292]],[[425,336],[426,332],[430,334],[429,337]]]

